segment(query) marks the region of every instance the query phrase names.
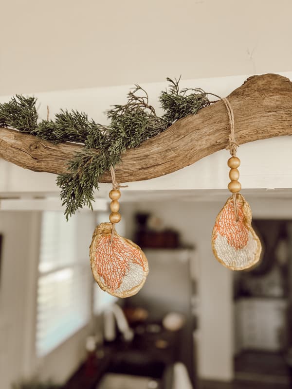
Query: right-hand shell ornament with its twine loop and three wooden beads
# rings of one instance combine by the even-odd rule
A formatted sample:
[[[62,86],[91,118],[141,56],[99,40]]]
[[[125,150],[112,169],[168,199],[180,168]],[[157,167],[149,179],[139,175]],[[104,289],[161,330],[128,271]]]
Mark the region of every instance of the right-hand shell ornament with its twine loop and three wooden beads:
[[[219,212],[212,233],[212,249],[215,258],[232,270],[244,270],[256,265],[260,259],[261,243],[252,228],[252,211],[249,203],[239,194],[241,184],[238,182],[240,159],[237,158],[238,144],[235,140],[234,116],[229,101],[222,98],[229,118],[229,144],[231,158],[228,189],[232,196],[228,198]]]

